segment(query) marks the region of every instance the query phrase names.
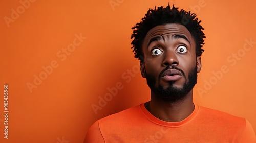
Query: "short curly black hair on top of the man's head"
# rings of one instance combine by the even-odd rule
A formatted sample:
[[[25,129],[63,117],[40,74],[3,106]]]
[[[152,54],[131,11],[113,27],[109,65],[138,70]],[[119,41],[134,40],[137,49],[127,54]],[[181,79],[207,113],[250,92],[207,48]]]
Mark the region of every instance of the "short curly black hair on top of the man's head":
[[[180,25],[185,26],[188,31],[193,36],[196,42],[196,56],[201,56],[204,50],[202,49],[204,45],[204,33],[202,30],[204,28],[200,25],[201,20],[198,21],[196,14],[190,11],[186,12],[185,10],[174,7],[170,8],[170,5],[166,8],[163,6],[158,7],[156,9],[149,9],[145,16],[141,19],[142,21],[137,23],[132,29],[133,34],[131,36],[132,41],[132,49],[134,52],[134,57],[138,58],[140,61],[144,61],[144,55],[142,51],[142,43],[147,32],[159,25],[166,25],[168,23],[178,23]]]

